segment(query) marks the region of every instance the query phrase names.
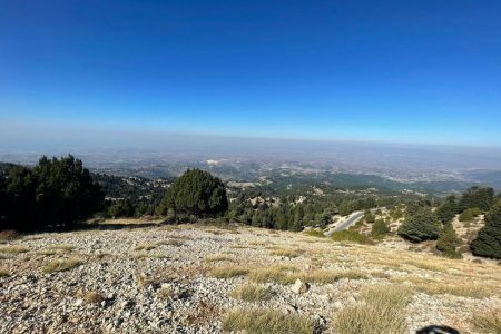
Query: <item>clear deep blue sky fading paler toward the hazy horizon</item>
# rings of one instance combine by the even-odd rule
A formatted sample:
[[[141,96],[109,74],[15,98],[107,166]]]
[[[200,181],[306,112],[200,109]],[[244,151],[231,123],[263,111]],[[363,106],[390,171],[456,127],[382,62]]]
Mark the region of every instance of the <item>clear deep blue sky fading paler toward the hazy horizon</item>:
[[[1,1],[0,140],[62,128],[501,146],[501,2]]]

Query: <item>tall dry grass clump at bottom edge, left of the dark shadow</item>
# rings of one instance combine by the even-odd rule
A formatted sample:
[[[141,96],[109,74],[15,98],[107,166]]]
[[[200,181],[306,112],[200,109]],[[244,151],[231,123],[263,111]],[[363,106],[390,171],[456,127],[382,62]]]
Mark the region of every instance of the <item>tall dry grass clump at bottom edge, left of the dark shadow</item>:
[[[334,315],[336,333],[372,334],[405,333],[405,306],[411,291],[404,286],[365,287],[361,291],[363,303],[348,306]]]

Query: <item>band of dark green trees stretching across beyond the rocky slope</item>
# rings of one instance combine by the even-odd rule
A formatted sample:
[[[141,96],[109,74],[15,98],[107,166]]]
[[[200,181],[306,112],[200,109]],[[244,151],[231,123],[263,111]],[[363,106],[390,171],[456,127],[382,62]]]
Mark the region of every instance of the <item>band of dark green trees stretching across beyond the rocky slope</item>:
[[[176,178],[161,196],[106,203],[100,184],[92,179],[82,161],[71,155],[42,157],[35,167],[11,166],[0,177],[0,230],[37,230],[69,228],[96,214],[131,216],[153,214],[170,222],[218,217],[256,227],[299,232],[305,226],[324,228],[333,215],[390,206],[402,215],[401,198],[372,195],[327,197],[284,196],[273,200],[249,200],[238,194],[228,200],[224,183],[200,169],[188,169]],[[144,200],[141,203],[141,200]],[[143,206],[141,209],[140,208]],[[405,219],[399,235],[414,243],[438,239],[436,248],[458,256],[460,240],[452,219],[470,219],[485,214],[485,226],[471,243],[473,254],[501,258],[501,197],[488,187],[472,187],[461,197],[451,195],[439,206],[428,199],[405,203]],[[396,209],[397,208],[397,209]],[[371,212],[365,220],[374,223],[374,234],[387,233],[384,222],[374,222]],[[375,224],[377,223],[377,224]]]

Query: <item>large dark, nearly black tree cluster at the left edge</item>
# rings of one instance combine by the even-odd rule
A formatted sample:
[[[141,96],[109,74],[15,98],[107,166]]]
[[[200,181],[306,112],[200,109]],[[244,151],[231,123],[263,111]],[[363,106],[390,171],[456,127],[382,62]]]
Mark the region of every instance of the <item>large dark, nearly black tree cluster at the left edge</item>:
[[[68,227],[101,208],[104,195],[81,160],[42,157],[0,178],[0,229]]]

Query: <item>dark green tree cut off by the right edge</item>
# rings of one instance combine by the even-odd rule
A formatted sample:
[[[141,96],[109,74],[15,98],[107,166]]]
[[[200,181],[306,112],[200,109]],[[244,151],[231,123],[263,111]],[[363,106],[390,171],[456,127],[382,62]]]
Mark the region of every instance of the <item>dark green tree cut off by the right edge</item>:
[[[501,200],[485,216],[485,225],[470,245],[474,255],[501,258]]]

